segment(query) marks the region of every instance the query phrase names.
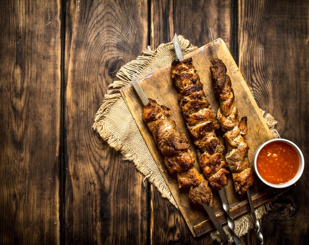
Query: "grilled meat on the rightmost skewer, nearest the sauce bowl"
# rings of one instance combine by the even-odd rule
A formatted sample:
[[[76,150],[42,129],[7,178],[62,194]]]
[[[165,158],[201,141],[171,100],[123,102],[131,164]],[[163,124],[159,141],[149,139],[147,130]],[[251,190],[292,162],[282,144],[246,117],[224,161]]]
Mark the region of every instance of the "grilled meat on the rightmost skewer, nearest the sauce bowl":
[[[210,72],[212,86],[219,97],[220,107],[217,119],[221,130],[225,132],[224,138],[227,147],[226,161],[232,172],[235,192],[243,195],[252,186],[254,177],[248,159],[248,145],[244,135],[247,134],[247,118],[237,117],[237,107],[234,103],[234,92],[227,67],[221,59],[211,61]]]

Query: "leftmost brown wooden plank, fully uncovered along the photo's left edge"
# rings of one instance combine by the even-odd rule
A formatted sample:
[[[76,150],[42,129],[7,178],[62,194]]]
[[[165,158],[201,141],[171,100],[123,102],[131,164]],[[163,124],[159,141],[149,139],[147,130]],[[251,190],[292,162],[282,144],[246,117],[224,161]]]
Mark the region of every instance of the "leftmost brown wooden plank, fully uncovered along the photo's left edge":
[[[0,244],[59,244],[60,1],[0,16]]]

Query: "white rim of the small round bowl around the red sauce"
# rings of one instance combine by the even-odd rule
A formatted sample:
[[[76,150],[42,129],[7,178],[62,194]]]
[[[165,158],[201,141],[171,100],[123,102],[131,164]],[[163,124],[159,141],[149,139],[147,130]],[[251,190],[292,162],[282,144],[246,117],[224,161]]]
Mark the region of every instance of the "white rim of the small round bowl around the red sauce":
[[[293,179],[289,180],[288,182],[284,183],[284,184],[271,184],[270,182],[266,181],[263,179],[263,177],[259,174],[259,171],[257,170],[257,157],[261,151],[261,149],[263,147],[265,147],[266,145],[272,143],[272,142],[284,142],[287,143],[288,145],[292,146],[296,152],[298,153],[299,156],[299,160],[300,160],[300,166],[299,169],[296,173],[296,175],[293,177]],[[273,187],[273,188],[286,188],[289,186],[294,185],[302,176],[303,172],[304,172],[304,167],[305,167],[305,159],[304,159],[304,155],[303,152],[301,151],[301,149],[292,141],[286,140],[286,139],[271,139],[269,141],[264,142],[262,145],[260,145],[257,150],[255,151],[254,154],[254,171],[256,173],[256,175],[259,177],[259,179],[266,185]]]

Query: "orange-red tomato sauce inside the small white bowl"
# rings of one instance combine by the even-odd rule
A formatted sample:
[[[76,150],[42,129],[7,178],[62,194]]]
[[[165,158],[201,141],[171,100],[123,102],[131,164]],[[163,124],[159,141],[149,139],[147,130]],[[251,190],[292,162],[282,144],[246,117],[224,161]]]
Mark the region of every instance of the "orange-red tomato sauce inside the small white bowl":
[[[264,146],[257,157],[257,169],[264,180],[283,184],[293,179],[300,167],[296,150],[284,142]]]

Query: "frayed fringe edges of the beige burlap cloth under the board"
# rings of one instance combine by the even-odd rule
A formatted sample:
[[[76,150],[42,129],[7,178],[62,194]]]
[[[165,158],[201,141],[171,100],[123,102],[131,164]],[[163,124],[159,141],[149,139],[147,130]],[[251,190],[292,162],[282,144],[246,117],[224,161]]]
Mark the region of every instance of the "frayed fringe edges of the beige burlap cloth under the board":
[[[190,42],[186,40],[184,37],[179,36],[178,39],[180,41],[180,45],[184,53],[189,53],[197,49],[197,47],[190,44]],[[144,163],[134,155],[130,147],[124,147],[121,140],[118,137],[116,137],[109,130],[108,125],[105,125],[104,123],[104,119],[106,118],[106,116],[108,116],[108,112],[113,108],[113,105],[119,99],[123,99],[120,95],[120,89],[126,86],[127,84],[131,83],[133,74],[135,74],[137,78],[140,78],[140,74],[143,71],[143,69],[145,69],[151,63],[151,61],[154,60],[157,54],[159,54],[160,51],[166,45],[171,45],[171,43],[161,44],[154,51],[151,49],[150,46],[148,46],[147,49],[144,50],[143,54],[141,56],[138,56],[136,60],[130,61],[129,63],[123,65],[119,69],[119,71],[116,74],[116,78],[119,80],[114,81],[114,83],[109,86],[110,90],[107,91],[106,95],[104,96],[102,105],[96,113],[94,124],[92,127],[95,131],[99,133],[99,135],[102,137],[104,141],[106,141],[111,147],[121,152],[124,160],[130,160],[134,162],[136,168],[145,175],[144,181],[145,179],[148,179],[151,183],[153,183],[156,186],[156,188],[162,194],[163,197],[166,197],[176,208],[178,208],[173,196],[167,195],[167,193],[170,194],[170,191],[168,190],[167,186],[162,185],[162,183],[160,183],[156,178],[152,178],[153,172],[145,169],[143,167]],[[270,128],[273,137],[279,138],[278,132],[274,129],[274,126],[276,125],[277,121],[265,111],[261,110],[261,113],[268,127]],[[272,200],[268,201],[267,203],[255,209],[255,213],[258,219],[262,218],[262,216],[271,209],[271,201]],[[253,219],[251,214],[244,214],[235,220],[235,233],[239,236],[245,235],[252,228],[253,228]],[[232,236],[228,231],[228,226],[225,225],[224,229],[229,235],[230,241],[232,242]],[[217,231],[211,232],[210,237],[213,240],[217,241],[221,240],[219,233]]]

